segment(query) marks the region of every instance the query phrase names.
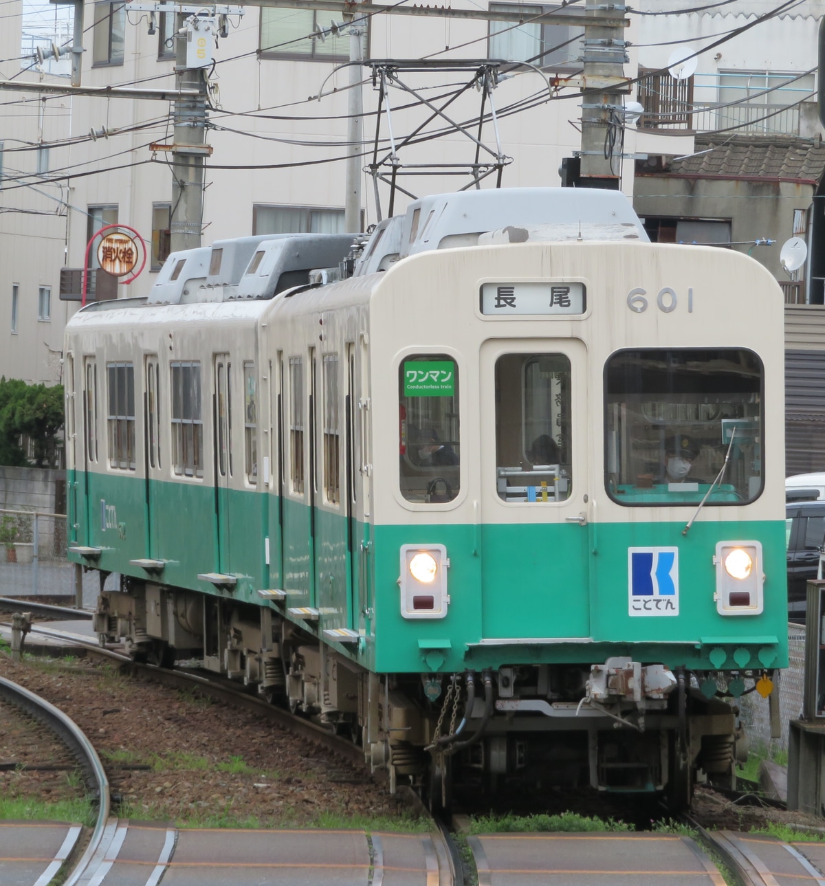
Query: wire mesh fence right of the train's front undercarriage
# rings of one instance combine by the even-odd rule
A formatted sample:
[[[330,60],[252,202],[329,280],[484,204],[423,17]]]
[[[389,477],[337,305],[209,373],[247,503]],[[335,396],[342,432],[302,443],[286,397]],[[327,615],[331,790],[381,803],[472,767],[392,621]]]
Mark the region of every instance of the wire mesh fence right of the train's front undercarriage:
[[[803,679],[805,674],[805,626],[788,626],[790,666],[779,676],[779,712],[782,737],[771,738],[767,699],[756,692],[739,699],[739,710],[751,750],[775,753],[788,750],[788,729],[792,719],[802,716]]]

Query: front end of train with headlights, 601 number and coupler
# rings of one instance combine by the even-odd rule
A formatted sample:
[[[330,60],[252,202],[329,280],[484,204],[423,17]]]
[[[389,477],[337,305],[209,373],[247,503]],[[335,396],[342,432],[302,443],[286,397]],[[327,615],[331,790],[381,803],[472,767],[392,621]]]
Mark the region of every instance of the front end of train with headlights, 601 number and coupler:
[[[386,272],[361,627],[399,773],[730,783],[787,664],[782,309],[740,254],[597,234]]]

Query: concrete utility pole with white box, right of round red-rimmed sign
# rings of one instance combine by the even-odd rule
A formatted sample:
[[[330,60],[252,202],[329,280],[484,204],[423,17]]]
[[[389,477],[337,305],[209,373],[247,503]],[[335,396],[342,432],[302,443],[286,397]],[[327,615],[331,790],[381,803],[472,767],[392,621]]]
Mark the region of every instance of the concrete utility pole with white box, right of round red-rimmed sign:
[[[172,220],[170,251],[197,249],[203,228],[204,161],[206,146],[206,80],[201,68],[186,66],[186,17],[175,15],[175,74],[180,89],[193,89],[194,97],[175,99],[175,135],[172,145]],[[212,39],[211,35],[209,39]]]

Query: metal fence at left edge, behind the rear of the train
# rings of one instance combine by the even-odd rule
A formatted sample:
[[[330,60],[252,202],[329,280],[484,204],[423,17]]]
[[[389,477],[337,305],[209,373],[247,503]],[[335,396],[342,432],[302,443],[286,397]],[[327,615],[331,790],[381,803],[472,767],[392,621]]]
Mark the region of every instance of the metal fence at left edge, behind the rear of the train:
[[[0,596],[72,596],[74,563],[66,559],[66,515],[0,509]],[[117,587],[109,576],[106,587]],[[93,607],[97,572],[83,575],[83,606]]]

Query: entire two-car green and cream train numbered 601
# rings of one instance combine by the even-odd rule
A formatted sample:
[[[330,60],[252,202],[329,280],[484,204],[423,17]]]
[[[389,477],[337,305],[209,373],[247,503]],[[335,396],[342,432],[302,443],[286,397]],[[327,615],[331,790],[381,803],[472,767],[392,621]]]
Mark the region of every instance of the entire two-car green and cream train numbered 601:
[[[97,633],[434,804],[685,804],[787,664],[782,310],[756,261],[650,244],[602,190],[175,253],[66,329],[69,556],[120,575]]]

